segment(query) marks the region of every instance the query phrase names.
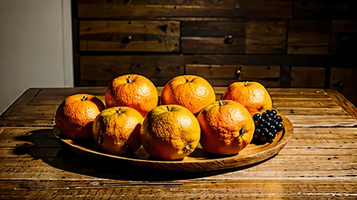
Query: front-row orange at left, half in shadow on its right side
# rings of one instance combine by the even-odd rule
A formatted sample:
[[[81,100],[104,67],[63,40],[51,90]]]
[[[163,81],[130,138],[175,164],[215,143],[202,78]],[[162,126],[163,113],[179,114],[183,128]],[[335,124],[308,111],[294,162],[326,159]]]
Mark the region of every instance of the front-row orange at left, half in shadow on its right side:
[[[140,128],[143,120],[143,116],[133,108],[108,108],[94,120],[94,140],[112,154],[135,152],[141,146]]]

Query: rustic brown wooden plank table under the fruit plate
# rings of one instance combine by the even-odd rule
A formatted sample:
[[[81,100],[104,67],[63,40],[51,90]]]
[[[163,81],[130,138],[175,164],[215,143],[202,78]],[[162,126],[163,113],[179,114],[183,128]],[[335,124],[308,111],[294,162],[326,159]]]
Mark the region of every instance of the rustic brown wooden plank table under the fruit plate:
[[[217,98],[224,89],[215,88]],[[52,135],[57,106],[75,93],[104,100],[104,91],[30,88],[0,116],[0,199],[357,198],[357,109],[335,90],[269,89],[294,125],[290,143],[259,165],[210,173],[113,166],[61,148]]]

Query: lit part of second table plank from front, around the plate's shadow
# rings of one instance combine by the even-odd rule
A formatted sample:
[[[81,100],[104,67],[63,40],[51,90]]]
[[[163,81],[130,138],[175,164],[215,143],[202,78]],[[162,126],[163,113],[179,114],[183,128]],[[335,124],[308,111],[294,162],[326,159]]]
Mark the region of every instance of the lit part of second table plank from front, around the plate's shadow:
[[[60,180],[63,176],[68,181],[89,180],[96,181],[103,178],[131,180],[131,181],[169,181],[169,177],[155,177],[159,174],[169,175],[171,178],[182,179],[190,178],[187,174],[169,172],[169,171],[143,171],[135,167],[109,166],[110,163],[96,163],[95,160],[88,160],[82,157],[68,156],[71,152],[61,152],[64,154],[61,157],[38,157],[41,159],[33,159],[33,157],[2,157],[0,160],[1,174],[0,180]],[[66,154],[66,155],[65,155]],[[291,180],[299,178],[306,181],[324,180],[333,176],[335,179],[351,179],[355,174],[354,168],[357,167],[356,156],[341,156],[337,159],[332,159],[331,156],[276,156],[259,166],[254,166],[241,171],[234,171],[228,174],[216,175],[215,177],[203,177],[213,180],[231,180],[243,181],[250,180]],[[328,159],[330,158],[330,159]],[[291,162],[294,160],[294,162]],[[103,164],[108,165],[106,170],[103,169]],[[299,167],[299,166],[304,166]],[[271,169],[275,170],[272,171]],[[31,176],[29,176],[31,174]],[[208,173],[210,174],[210,173]],[[159,175],[160,176],[160,175]],[[193,174],[191,174],[191,177]],[[96,178],[99,177],[99,178]],[[193,176],[195,177],[195,176]],[[202,177],[202,179],[204,179]]]

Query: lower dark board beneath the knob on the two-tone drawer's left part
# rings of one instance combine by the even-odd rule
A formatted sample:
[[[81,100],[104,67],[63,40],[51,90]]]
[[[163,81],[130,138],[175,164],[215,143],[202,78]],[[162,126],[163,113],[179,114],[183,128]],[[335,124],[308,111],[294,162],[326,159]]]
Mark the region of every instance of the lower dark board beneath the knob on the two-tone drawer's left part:
[[[245,51],[244,38],[234,38],[225,43],[225,38],[181,37],[182,53],[236,53]]]

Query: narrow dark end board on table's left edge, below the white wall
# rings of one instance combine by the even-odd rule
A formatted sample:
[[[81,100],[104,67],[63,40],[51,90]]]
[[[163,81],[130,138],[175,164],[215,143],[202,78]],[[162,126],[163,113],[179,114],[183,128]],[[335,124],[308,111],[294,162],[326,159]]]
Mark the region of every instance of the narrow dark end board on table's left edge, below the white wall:
[[[40,88],[30,88],[26,90],[1,116],[16,115],[39,91],[41,91]]]

